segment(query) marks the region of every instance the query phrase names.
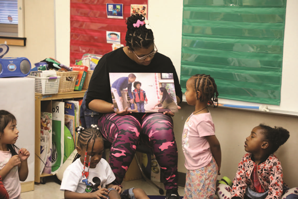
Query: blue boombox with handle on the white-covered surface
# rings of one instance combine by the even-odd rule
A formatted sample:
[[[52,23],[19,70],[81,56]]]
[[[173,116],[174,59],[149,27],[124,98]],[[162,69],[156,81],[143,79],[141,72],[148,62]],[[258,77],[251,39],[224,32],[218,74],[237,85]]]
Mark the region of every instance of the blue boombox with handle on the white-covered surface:
[[[6,44],[0,44],[0,78],[26,77],[31,71],[30,61],[25,57],[3,56],[9,51]]]

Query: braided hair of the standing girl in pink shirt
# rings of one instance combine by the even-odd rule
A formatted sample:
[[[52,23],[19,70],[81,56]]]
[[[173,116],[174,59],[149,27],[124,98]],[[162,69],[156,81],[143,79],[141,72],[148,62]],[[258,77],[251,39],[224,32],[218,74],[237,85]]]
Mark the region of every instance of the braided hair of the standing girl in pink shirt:
[[[192,76],[194,78],[194,85],[196,93],[199,91],[201,93],[200,101],[206,101],[210,103],[210,105],[214,105],[214,107],[218,107],[219,105],[219,92],[217,90],[217,85],[215,81],[210,75],[205,74],[197,74]],[[217,102],[215,104],[214,102]]]

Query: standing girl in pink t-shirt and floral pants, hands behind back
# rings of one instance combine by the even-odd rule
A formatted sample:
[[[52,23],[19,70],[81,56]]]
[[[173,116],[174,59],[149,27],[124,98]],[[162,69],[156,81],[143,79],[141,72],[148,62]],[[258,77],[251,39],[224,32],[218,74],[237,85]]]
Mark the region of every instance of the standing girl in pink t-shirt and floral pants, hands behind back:
[[[195,111],[187,118],[182,133],[186,174],[183,199],[215,199],[222,152],[215,136],[208,103],[217,107],[219,93],[210,75],[194,75],[186,82],[185,97]]]

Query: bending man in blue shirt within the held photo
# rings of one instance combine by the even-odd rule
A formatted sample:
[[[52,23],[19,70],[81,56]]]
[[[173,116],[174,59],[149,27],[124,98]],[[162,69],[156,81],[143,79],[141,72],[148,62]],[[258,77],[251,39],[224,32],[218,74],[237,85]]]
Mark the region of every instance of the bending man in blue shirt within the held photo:
[[[131,99],[131,103],[133,103],[133,95],[132,95],[132,83],[135,82],[136,76],[135,74],[129,74],[128,77],[118,78],[115,82],[113,82],[111,91],[114,94],[114,98],[117,102],[118,110],[123,111],[127,104],[127,95],[124,92],[124,89],[127,88],[127,93]]]

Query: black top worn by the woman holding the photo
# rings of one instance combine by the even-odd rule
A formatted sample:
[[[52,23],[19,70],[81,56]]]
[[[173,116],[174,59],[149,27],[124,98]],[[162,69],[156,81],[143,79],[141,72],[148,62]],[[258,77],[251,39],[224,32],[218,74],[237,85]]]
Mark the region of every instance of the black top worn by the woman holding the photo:
[[[109,73],[173,73],[176,96],[182,100],[182,91],[175,67],[170,58],[156,53],[148,66],[137,64],[130,59],[123,48],[105,54],[99,61],[91,77],[86,106],[92,100],[105,100],[113,103]]]

